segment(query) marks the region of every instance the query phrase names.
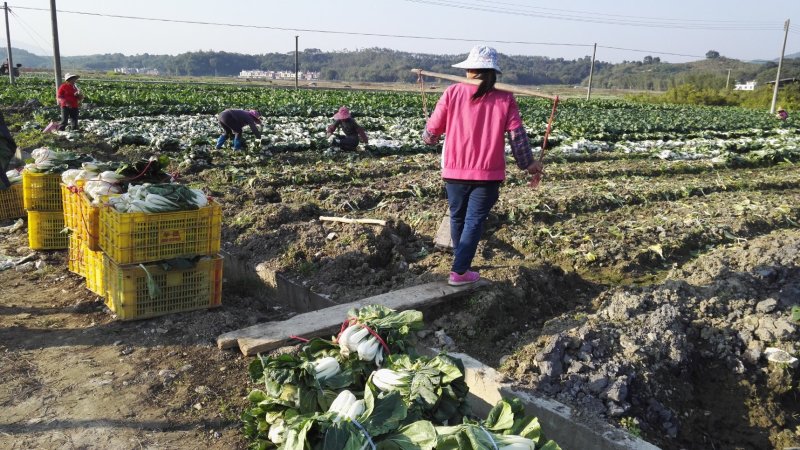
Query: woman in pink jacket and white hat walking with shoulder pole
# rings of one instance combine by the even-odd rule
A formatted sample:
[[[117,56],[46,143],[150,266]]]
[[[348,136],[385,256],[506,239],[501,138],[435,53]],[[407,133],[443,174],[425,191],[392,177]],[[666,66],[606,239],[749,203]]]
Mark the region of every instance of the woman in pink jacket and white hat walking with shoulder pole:
[[[460,286],[480,279],[479,273],[472,270],[472,260],[483,224],[506,176],[506,133],[517,167],[539,175],[542,164],[533,158],[514,95],[494,88],[501,73],[497,51],[475,46],[466,60],[453,67],[466,69],[467,78],[480,80],[480,85],[458,83],[448,87],[436,103],[422,139],[428,145],[436,145],[446,135],[442,178],[454,250],[448,283]]]

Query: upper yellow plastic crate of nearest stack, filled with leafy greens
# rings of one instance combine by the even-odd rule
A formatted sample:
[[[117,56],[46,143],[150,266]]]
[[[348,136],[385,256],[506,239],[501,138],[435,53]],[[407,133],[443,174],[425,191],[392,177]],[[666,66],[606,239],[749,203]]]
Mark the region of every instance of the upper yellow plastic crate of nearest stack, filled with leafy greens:
[[[100,208],[100,248],[117,264],[215,255],[221,231],[222,208],[214,202],[192,211],[158,214]]]

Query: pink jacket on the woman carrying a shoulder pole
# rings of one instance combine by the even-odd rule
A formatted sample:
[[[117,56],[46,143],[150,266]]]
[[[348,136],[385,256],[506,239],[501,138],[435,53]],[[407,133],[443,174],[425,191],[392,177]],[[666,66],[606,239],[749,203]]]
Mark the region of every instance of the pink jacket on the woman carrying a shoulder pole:
[[[519,107],[513,94],[498,90],[473,101],[477,90],[466,83],[450,86],[428,119],[430,134],[447,135],[442,178],[503,181],[506,177],[505,133],[522,126]]]

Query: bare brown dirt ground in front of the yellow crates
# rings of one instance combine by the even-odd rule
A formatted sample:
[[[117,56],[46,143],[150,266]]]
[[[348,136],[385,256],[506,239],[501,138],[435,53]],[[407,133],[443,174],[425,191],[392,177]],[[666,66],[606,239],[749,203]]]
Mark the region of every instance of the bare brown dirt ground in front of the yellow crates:
[[[27,253],[25,236],[0,254]],[[118,322],[64,253],[38,253],[39,272],[0,272],[0,447],[245,447],[248,361],[214,339],[273,308],[231,293],[224,309]]]

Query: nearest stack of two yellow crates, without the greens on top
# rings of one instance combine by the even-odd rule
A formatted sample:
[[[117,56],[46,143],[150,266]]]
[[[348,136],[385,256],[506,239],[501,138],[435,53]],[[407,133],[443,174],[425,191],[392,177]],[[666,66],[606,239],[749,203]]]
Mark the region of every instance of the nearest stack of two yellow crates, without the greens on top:
[[[106,305],[122,320],[220,306],[221,229],[222,209],[213,201],[196,210],[154,214],[102,205],[102,267],[96,260],[90,267],[102,277]]]

